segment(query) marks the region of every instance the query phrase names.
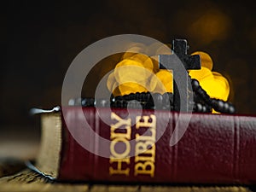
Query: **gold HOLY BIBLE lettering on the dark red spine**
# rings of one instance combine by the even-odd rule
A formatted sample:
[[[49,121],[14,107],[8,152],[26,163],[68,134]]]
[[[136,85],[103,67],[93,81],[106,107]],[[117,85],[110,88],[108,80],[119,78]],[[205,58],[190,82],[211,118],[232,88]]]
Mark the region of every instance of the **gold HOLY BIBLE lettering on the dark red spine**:
[[[131,144],[131,119],[121,119],[117,114],[111,113],[111,119],[116,120],[110,128],[110,159],[109,174],[130,174]],[[155,115],[137,116],[136,129],[143,127],[147,129],[143,135],[136,133],[135,146],[135,166],[134,175],[150,175],[154,177],[155,161],[155,137],[156,137],[156,118]],[[120,148],[120,145],[124,145]],[[119,150],[121,149],[121,151]]]

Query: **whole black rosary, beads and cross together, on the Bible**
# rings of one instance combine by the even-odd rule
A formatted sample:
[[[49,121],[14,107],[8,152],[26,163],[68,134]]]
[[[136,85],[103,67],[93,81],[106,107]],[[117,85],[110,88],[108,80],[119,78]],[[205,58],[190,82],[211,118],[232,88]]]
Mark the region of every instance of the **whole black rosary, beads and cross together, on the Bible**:
[[[207,91],[202,89],[198,80],[189,77],[186,70],[200,69],[201,61],[199,55],[187,55],[187,49],[186,40],[175,39],[172,41],[172,51],[175,54],[160,55],[160,69],[172,69],[173,71],[174,93],[137,92],[124,96],[112,95],[108,100],[83,98],[79,100],[79,104],[83,107],[143,108],[183,112],[191,110],[195,113],[212,113],[214,109],[218,113],[235,113],[235,107],[230,102],[211,98]],[[180,70],[181,62],[178,63],[177,60],[182,62],[185,70]],[[184,77],[186,82],[182,82],[180,86],[178,82],[175,82],[175,77]],[[189,83],[191,84],[190,90]],[[193,94],[193,101],[189,102],[188,98],[191,94]],[[183,108],[181,108],[182,102],[185,103]]]

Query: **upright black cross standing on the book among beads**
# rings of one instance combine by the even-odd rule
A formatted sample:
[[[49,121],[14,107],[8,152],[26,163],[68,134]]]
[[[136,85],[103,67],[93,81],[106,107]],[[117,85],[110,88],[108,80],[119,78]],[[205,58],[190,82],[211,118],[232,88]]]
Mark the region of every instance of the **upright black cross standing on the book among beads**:
[[[187,70],[201,69],[200,55],[187,55],[187,50],[187,40],[175,39],[172,41],[172,55],[160,55],[159,58],[160,69],[168,69],[173,72],[175,111],[189,112],[189,98],[193,91]]]

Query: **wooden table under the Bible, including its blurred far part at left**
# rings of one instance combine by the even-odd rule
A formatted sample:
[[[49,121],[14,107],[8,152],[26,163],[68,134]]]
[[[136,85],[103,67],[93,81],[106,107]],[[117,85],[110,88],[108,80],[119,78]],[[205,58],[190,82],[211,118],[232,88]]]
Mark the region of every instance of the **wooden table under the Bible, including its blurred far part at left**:
[[[24,128],[25,129],[25,128]],[[25,166],[26,160],[36,157],[39,146],[39,134],[33,131],[1,131],[0,130],[0,192],[19,191],[61,191],[61,192],[147,192],[147,191],[173,191],[173,192],[196,192],[196,191],[224,191],[243,192],[256,191],[253,186],[196,186],[196,185],[113,185],[90,184],[90,183],[55,183],[32,172]],[[3,130],[3,129],[2,129]],[[11,130],[11,129],[9,129]],[[28,129],[29,130],[29,129]]]

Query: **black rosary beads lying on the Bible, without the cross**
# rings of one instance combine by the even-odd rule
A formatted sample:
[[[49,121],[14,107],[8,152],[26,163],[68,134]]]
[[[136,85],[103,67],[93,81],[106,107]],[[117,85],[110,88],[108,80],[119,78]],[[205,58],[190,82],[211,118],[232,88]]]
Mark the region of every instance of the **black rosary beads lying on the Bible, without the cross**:
[[[206,90],[201,88],[198,80],[191,79],[194,102],[189,103],[193,107],[193,112],[212,113],[212,109],[219,113],[235,113],[235,107],[230,102],[211,98]],[[173,94],[160,93],[131,93],[125,96],[111,96],[110,100],[94,99],[86,97],[79,100],[72,100],[72,105],[82,105],[83,107],[111,107],[111,108],[143,108],[143,109],[165,109],[173,110]]]

